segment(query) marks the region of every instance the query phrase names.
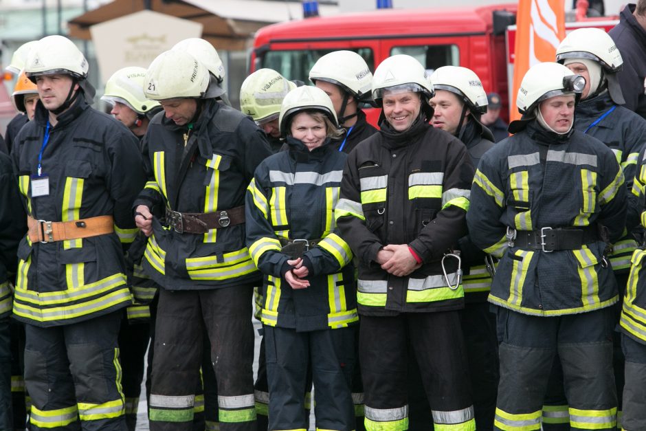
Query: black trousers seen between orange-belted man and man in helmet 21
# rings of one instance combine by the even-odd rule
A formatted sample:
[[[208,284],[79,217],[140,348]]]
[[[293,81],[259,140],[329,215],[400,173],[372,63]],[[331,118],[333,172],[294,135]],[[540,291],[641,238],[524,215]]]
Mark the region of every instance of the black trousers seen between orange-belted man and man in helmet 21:
[[[149,322],[129,324],[124,312],[119,331],[119,349],[123,370],[122,386],[126,397],[126,424],[128,431],[135,431],[137,410],[144,380],[144,360],[148,341],[151,339]]]

